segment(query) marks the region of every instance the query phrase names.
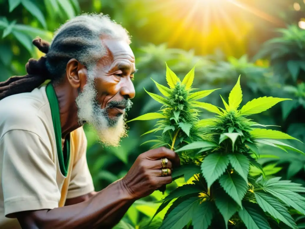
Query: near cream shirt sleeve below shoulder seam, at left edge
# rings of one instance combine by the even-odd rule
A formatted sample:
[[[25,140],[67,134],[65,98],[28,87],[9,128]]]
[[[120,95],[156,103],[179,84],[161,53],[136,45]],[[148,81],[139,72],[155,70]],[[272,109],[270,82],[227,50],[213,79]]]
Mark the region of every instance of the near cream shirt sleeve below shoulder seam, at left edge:
[[[58,207],[60,191],[50,149],[50,144],[27,130],[10,130],[0,139],[6,217],[14,218],[11,213],[21,211]]]

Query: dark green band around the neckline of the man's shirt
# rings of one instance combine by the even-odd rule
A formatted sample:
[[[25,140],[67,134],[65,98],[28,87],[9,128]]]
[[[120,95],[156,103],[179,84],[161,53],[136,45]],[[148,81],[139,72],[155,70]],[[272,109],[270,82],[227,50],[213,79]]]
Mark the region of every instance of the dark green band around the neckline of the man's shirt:
[[[70,159],[70,134],[67,135],[65,140],[65,145],[62,150],[62,134],[61,134],[61,125],[60,125],[60,115],[59,115],[59,104],[57,100],[57,96],[53,85],[48,83],[45,89],[47,93],[47,97],[50,103],[51,115],[53,120],[53,126],[55,131],[55,139],[56,139],[56,148],[59,160],[59,168],[63,176],[67,176],[69,159]]]

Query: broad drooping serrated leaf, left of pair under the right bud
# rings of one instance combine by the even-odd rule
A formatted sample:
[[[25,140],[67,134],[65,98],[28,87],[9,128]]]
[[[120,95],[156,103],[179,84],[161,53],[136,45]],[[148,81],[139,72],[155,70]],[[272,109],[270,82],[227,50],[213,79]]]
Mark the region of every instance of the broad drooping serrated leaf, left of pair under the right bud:
[[[220,153],[210,154],[203,159],[201,171],[206,179],[208,188],[224,173],[228,164],[229,158]]]

